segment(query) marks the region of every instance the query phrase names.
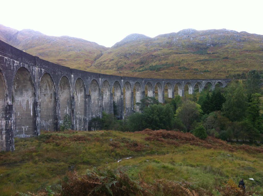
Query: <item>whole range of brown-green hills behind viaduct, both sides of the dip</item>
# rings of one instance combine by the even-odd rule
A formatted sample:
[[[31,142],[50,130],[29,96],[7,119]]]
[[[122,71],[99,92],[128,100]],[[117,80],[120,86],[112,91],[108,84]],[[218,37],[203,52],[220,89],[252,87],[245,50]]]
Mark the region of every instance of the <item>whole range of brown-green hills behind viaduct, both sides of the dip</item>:
[[[146,78],[225,78],[263,71],[263,35],[184,29],[154,38],[131,34],[111,48],[69,36],[0,25],[0,39],[41,59],[84,71]]]

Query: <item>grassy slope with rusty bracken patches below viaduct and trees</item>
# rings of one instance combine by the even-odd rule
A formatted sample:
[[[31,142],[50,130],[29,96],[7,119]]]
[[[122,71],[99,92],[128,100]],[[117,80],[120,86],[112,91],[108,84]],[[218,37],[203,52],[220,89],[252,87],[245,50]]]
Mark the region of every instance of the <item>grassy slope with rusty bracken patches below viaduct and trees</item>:
[[[34,138],[16,138],[15,143],[15,152],[0,153],[3,196],[36,193],[60,184],[67,171],[81,174],[92,166],[119,168],[149,184],[167,179],[214,194],[229,179],[237,184],[244,178],[247,191],[263,192],[263,148],[230,145],[213,137],[203,141],[190,133],[165,130],[67,131],[42,132]]]

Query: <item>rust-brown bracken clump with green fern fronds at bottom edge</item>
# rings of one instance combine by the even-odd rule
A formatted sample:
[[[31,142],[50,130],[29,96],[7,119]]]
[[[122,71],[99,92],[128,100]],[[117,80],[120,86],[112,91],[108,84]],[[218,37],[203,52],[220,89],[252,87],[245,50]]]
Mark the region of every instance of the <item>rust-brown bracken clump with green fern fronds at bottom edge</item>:
[[[145,190],[123,171],[102,171],[93,168],[80,176],[68,172],[62,181],[62,195],[139,195]]]

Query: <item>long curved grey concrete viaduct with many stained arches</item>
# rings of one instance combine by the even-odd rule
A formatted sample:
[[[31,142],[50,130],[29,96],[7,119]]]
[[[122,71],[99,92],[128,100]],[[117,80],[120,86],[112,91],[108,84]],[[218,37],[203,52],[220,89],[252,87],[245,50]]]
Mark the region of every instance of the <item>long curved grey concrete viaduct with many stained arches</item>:
[[[86,72],[32,56],[0,41],[0,150],[13,151],[14,137],[39,135],[40,130],[59,130],[65,115],[72,129],[89,130],[90,119],[102,111],[120,118],[139,111],[134,103],[145,94],[164,102],[168,97],[192,94],[210,84],[225,87],[228,79],[181,80],[135,78]],[[186,88],[187,89],[187,88]],[[135,100],[134,100],[135,98]]]

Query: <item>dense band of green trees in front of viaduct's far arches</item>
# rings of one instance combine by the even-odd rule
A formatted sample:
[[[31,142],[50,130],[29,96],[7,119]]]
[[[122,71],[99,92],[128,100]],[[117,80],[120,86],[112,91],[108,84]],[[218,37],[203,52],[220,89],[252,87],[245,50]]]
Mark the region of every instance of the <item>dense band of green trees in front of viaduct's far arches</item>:
[[[210,135],[229,141],[263,141],[262,75],[250,70],[246,78],[214,91],[166,98],[164,104],[145,97],[136,103],[140,112],[117,120],[115,108],[114,114],[103,112],[101,119],[92,119],[91,128],[131,132],[166,129],[191,132],[201,139]]]

